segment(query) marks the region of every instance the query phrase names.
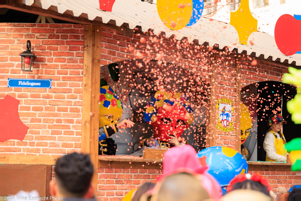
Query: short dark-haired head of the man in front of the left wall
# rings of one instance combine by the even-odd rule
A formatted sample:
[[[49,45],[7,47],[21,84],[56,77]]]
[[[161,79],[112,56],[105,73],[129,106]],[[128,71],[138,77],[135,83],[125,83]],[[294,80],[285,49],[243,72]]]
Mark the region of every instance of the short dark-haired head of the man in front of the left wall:
[[[55,185],[64,197],[84,197],[91,188],[93,165],[89,155],[72,153],[57,159],[55,163]]]

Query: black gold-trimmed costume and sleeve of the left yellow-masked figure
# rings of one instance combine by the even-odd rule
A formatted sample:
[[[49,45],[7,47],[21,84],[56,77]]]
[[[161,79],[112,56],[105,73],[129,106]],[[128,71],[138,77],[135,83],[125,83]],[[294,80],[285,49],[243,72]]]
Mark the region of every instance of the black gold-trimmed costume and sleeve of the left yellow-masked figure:
[[[98,155],[115,155],[117,145],[110,136],[117,133],[117,125],[100,127],[98,131]]]

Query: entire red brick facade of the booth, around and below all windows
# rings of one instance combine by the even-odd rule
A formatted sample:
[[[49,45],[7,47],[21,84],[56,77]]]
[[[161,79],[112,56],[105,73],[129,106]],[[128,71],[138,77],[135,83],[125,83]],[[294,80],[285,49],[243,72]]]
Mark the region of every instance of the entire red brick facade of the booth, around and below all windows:
[[[80,152],[83,80],[83,25],[78,24],[4,24],[4,66],[0,68],[0,95],[6,94],[20,100],[19,115],[29,130],[23,141],[8,140],[0,144],[9,155],[62,155]],[[177,41],[149,39],[140,34],[125,36],[116,30],[101,30],[101,64],[135,58],[140,51],[144,58],[160,57],[184,68],[200,71],[208,65],[208,55],[200,51],[197,43],[178,49]],[[33,72],[21,71],[19,53],[30,40],[37,59]],[[149,44],[147,41],[151,40]],[[160,42],[161,41],[161,42]],[[129,49],[129,46],[134,47]],[[145,50],[148,50],[147,52]],[[275,80],[281,81],[287,66],[278,62],[241,58],[241,87],[248,84]],[[235,59],[233,55],[216,55],[216,99],[235,100]],[[203,69],[203,77],[209,81],[209,68]],[[51,79],[51,89],[8,88],[8,78]],[[235,102],[235,101],[234,101]],[[235,103],[234,103],[235,105]],[[235,121],[235,118],[234,118]],[[235,148],[235,132],[217,130],[216,144]],[[278,186],[290,188],[296,182],[296,172],[260,171],[268,178],[276,192]],[[250,172],[253,173],[253,172]],[[122,200],[129,190],[146,181],[155,182],[157,170],[146,169],[98,169],[98,197],[104,200]],[[54,176],[54,175],[53,175]]]

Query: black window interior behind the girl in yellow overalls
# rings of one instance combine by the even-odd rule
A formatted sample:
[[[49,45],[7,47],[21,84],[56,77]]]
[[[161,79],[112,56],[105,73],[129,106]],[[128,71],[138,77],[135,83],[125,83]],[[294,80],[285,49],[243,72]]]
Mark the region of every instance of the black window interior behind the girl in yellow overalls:
[[[254,83],[241,89],[241,102],[249,108],[252,123],[257,124],[257,127],[255,129],[253,127],[250,132],[250,135],[252,132],[255,134],[257,132],[257,161],[265,161],[266,152],[263,149],[263,141],[269,129],[267,121],[273,111],[277,114],[281,114],[282,111],[282,116],[287,121],[287,124],[283,125],[283,134],[287,142],[298,137],[301,125],[295,124],[287,111],[287,101],[293,99],[296,93],[295,86],[277,81]],[[247,138],[245,143],[252,141],[253,137],[255,135],[249,136],[250,139]]]

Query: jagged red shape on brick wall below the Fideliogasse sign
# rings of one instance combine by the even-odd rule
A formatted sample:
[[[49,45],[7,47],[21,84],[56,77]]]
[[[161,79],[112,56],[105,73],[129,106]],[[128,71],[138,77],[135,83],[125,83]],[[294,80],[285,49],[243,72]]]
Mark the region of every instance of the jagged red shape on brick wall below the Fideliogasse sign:
[[[23,140],[28,130],[18,113],[20,101],[6,95],[0,99],[0,142],[6,140]]]

